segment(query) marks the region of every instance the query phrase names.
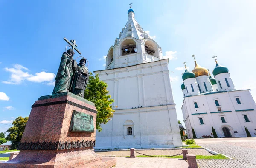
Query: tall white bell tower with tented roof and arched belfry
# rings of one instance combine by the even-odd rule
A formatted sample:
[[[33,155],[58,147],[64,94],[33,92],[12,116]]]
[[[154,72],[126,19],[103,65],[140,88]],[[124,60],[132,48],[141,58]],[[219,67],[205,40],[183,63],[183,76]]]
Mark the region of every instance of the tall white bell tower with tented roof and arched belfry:
[[[96,132],[95,149],[182,146],[169,78],[168,59],[128,10],[128,21],[110,47],[105,70],[113,118]]]

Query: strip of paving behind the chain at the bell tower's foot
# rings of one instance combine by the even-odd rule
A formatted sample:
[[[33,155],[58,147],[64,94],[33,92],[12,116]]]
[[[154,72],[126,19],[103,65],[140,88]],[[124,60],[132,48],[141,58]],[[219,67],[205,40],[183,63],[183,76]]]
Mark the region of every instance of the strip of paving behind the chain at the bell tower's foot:
[[[182,153],[181,149],[166,149],[166,150],[137,150],[137,152],[140,152],[142,154],[148,154],[148,155],[175,155],[175,154],[180,154]],[[127,157],[130,156],[130,151],[107,151],[107,152],[98,152],[96,151],[97,154],[104,155],[104,156],[109,156],[109,155],[115,155],[118,157]],[[136,155],[142,155],[142,154],[137,154]],[[205,149],[188,149],[188,154],[195,154],[195,155],[212,155]],[[182,156],[182,154],[181,154]]]

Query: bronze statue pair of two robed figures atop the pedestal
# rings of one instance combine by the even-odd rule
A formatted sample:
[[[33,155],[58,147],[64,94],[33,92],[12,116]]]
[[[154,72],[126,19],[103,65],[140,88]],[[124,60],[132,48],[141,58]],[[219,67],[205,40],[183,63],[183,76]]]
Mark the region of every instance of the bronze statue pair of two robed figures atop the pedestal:
[[[84,90],[89,79],[89,72],[85,66],[86,59],[82,58],[80,63],[77,64],[76,60],[73,60],[74,54],[75,52],[72,49],[62,54],[52,94],[72,92],[84,98]]]

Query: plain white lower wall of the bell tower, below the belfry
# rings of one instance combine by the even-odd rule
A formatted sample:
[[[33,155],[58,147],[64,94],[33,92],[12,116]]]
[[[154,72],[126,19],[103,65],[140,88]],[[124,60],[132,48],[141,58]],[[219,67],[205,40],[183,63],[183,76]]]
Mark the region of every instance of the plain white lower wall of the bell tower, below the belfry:
[[[108,84],[116,110],[96,132],[96,148],[182,146],[168,59],[95,73]],[[126,120],[134,123],[133,136],[125,135]]]

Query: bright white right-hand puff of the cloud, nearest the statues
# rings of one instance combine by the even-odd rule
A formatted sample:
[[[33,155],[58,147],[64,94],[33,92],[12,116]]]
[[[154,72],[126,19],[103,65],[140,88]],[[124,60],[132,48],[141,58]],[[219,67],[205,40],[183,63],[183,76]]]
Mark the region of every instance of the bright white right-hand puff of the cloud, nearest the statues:
[[[54,79],[55,79],[54,73],[46,73],[44,71],[40,73],[35,73],[35,76],[27,78],[28,81],[37,82],[37,83],[41,83],[44,81],[53,81]]]

